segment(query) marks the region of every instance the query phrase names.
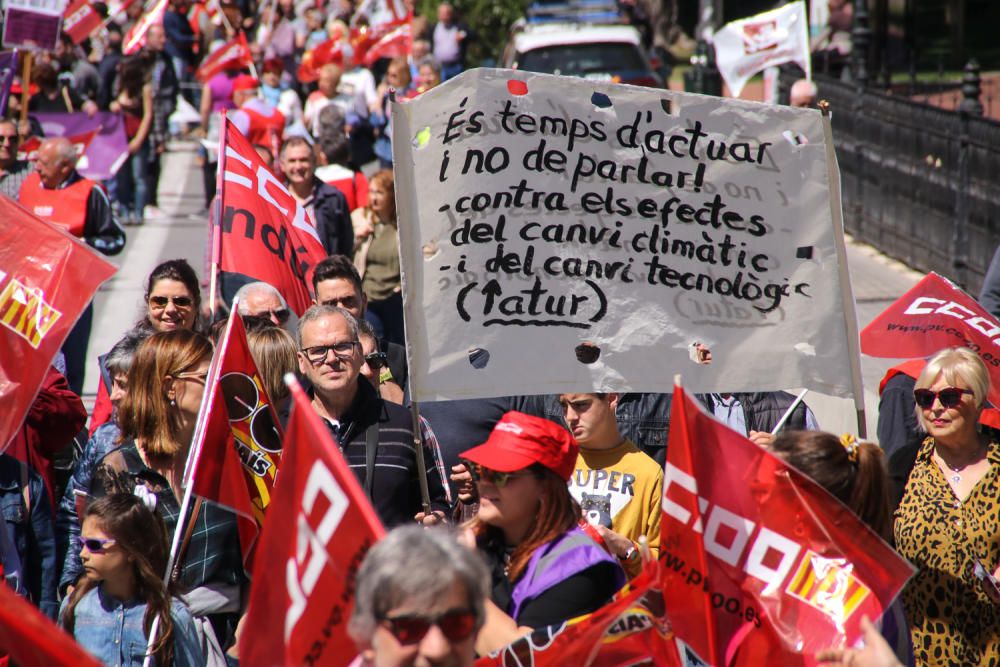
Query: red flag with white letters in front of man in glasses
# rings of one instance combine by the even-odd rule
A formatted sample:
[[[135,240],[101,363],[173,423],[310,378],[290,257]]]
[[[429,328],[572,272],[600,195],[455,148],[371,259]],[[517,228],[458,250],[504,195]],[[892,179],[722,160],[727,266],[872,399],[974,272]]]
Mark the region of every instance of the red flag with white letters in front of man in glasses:
[[[330,432],[294,379],[281,479],[264,523],[240,640],[248,665],[348,665],[354,580],[385,534]]]

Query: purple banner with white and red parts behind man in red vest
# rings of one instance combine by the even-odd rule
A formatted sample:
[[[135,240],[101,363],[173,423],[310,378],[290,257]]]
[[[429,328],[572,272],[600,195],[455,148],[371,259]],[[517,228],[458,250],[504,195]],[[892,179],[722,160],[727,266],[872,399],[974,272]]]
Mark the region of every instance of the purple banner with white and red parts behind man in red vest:
[[[87,178],[103,181],[114,176],[128,158],[125,124],[118,113],[33,113],[46,137],[69,137],[99,130],[87,152],[77,163],[77,170]]]

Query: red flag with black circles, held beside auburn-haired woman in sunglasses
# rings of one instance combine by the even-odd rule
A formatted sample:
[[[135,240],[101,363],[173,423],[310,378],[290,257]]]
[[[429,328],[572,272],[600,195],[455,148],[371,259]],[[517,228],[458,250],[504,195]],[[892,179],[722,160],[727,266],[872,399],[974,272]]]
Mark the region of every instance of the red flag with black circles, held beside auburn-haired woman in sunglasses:
[[[247,563],[281,465],[281,426],[235,308],[216,359],[201,417],[206,423],[196,441],[200,454],[192,473],[194,493],[236,513]]]

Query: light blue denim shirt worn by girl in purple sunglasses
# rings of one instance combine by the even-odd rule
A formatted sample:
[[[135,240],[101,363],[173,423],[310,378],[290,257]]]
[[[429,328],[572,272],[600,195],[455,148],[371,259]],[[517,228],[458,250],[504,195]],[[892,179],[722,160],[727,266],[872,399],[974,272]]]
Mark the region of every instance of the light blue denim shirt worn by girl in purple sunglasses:
[[[65,602],[63,603],[65,606]],[[146,603],[121,602],[104,593],[103,586],[88,591],[73,611],[76,641],[108,667],[142,667],[146,654],[143,619]],[[173,601],[174,666],[204,667],[194,621],[187,607]]]

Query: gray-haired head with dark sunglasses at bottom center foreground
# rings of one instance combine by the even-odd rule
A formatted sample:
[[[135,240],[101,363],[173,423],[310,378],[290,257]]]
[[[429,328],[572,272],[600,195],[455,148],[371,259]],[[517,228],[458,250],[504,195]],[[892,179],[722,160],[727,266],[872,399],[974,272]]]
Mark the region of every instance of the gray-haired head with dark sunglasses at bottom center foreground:
[[[471,667],[488,581],[449,531],[397,528],[361,563],[348,632],[367,664]]]

